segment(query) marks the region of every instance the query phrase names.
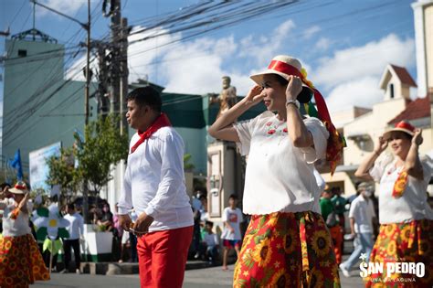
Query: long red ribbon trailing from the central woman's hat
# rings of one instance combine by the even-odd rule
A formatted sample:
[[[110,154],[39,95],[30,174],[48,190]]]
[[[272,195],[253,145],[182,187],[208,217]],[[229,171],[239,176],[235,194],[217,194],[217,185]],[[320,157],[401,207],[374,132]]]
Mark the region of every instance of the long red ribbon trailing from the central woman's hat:
[[[279,60],[272,60],[268,66],[268,69],[273,69],[279,71],[281,73],[287,75],[294,75],[301,78],[301,81],[309,86],[312,91],[314,91],[314,101],[316,102],[317,112],[319,115],[319,119],[325,125],[326,129],[330,133],[328,138],[328,144],[326,146],[326,160],[329,162],[331,166],[331,175],[335,171],[335,168],[342,158],[343,155],[343,147],[345,147],[345,142],[343,137],[338,133],[337,129],[333,125],[331,121],[331,116],[328,111],[328,107],[326,106],[326,102],[323,99],[323,96],[320,91],[315,89],[312,86],[312,82],[307,80],[301,73],[301,71],[286,62],[282,62]]]

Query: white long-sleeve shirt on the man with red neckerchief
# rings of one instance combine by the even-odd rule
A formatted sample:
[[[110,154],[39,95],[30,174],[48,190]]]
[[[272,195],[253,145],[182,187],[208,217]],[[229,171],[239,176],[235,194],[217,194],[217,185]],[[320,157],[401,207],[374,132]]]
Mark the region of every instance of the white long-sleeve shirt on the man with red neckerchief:
[[[132,136],[133,144],[140,139]],[[134,208],[153,217],[149,231],[177,229],[194,224],[186,194],[184,142],[173,127],[163,127],[128,155],[119,214]]]

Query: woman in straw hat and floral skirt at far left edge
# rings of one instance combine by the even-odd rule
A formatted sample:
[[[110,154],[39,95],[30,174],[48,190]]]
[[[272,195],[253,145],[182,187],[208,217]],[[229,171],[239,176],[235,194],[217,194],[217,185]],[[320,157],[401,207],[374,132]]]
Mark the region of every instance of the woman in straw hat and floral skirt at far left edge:
[[[0,239],[0,287],[28,287],[36,280],[49,280],[48,269],[28,226],[26,183],[9,189],[14,202],[0,201],[4,210]]]

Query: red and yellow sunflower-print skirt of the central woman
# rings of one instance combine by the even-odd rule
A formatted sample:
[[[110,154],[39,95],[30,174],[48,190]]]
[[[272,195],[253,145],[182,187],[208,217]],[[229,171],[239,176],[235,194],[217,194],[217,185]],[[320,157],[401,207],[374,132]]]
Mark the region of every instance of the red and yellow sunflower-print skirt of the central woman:
[[[252,216],[233,286],[340,287],[333,242],[322,216],[311,211]]]

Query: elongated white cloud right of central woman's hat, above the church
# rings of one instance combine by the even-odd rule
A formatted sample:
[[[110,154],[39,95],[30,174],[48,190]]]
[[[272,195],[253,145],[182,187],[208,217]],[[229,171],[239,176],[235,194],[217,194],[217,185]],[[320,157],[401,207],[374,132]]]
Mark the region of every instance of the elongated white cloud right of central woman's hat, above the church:
[[[400,39],[395,34],[372,41],[362,47],[334,52],[333,58],[322,58],[312,73],[312,80],[326,88],[344,81],[364,77],[380,77],[388,63],[410,68],[415,65],[415,42]]]

